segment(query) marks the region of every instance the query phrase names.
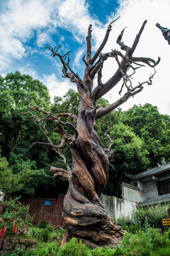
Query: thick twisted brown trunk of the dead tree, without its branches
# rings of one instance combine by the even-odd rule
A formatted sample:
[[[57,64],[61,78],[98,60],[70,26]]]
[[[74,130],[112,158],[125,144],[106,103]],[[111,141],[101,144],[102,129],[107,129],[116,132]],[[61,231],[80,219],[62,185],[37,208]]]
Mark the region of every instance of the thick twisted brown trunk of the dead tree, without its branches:
[[[79,105],[79,142],[72,147],[72,177],[64,198],[62,244],[73,236],[91,247],[118,245],[124,234],[103,208],[98,196],[108,181],[108,156],[102,149],[95,127],[96,110],[91,97]]]

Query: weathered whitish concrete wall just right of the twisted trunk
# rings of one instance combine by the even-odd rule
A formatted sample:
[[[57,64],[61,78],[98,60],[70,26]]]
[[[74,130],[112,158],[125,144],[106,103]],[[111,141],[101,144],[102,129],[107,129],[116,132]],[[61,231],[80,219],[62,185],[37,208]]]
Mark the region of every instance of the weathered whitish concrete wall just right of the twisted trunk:
[[[130,216],[132,214],[132,210],[136,209],[136,203],[116,198],[115,196],[106,196],[101,194],[100,200],[107,212],[115,219],[122,215]]]

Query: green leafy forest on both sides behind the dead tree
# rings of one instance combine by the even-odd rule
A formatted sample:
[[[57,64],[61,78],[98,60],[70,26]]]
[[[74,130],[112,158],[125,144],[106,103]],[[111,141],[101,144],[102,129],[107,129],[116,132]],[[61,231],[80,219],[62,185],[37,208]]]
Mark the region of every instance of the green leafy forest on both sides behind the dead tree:
[[[12,195],[57,198],[67,192],[68,183],[62,177],[53,178],[50,167],[63,168],[63,158],[56,152],[34,142],[60,144],[60,134],[54,133],[55,122],[38,124],[42,112],[26,113],[37,105],[52,114],[69,112],[77,114],[79,94],[69,90],[64,97],[55,97],[50,102],[47,87],[33,80],[30,75],[11,73],[0,76],[0,188],[6,198]],[[101,99],[97,105],[108,105]],[[63,117],[63,119],[66,117]],[[161,164],[162,158],[170,161],[170,117],[160,114],[156,106],[134,105],[127,111],[113,110],[97,120],[98,134],[103,147],[108,147],[110,134],[111,149],[115,152],[110,162],[109,181],[103,193],[121,196],[120,184],[125,174],[137,174]],[[69,129],[69,128],[68,128]],[[69,147],[65,146],[62,156],[72,166]]]

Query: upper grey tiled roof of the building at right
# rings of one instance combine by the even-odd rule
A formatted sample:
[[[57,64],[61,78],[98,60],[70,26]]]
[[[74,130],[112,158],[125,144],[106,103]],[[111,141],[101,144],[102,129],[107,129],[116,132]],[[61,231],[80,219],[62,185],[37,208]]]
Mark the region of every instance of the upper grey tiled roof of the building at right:
[[[136,181],[136,180],[140,180],[148,176],[153,176],[155,174],[160,174],[164,171],[169,171],[169,170],[170,170],[170,162],[166,164],[162,164],[161,166],[154,167],[148,171],[143,171],[140,174],[136,174],[136,175],[127,174],[127,177],[130,178],[130,180]]]

